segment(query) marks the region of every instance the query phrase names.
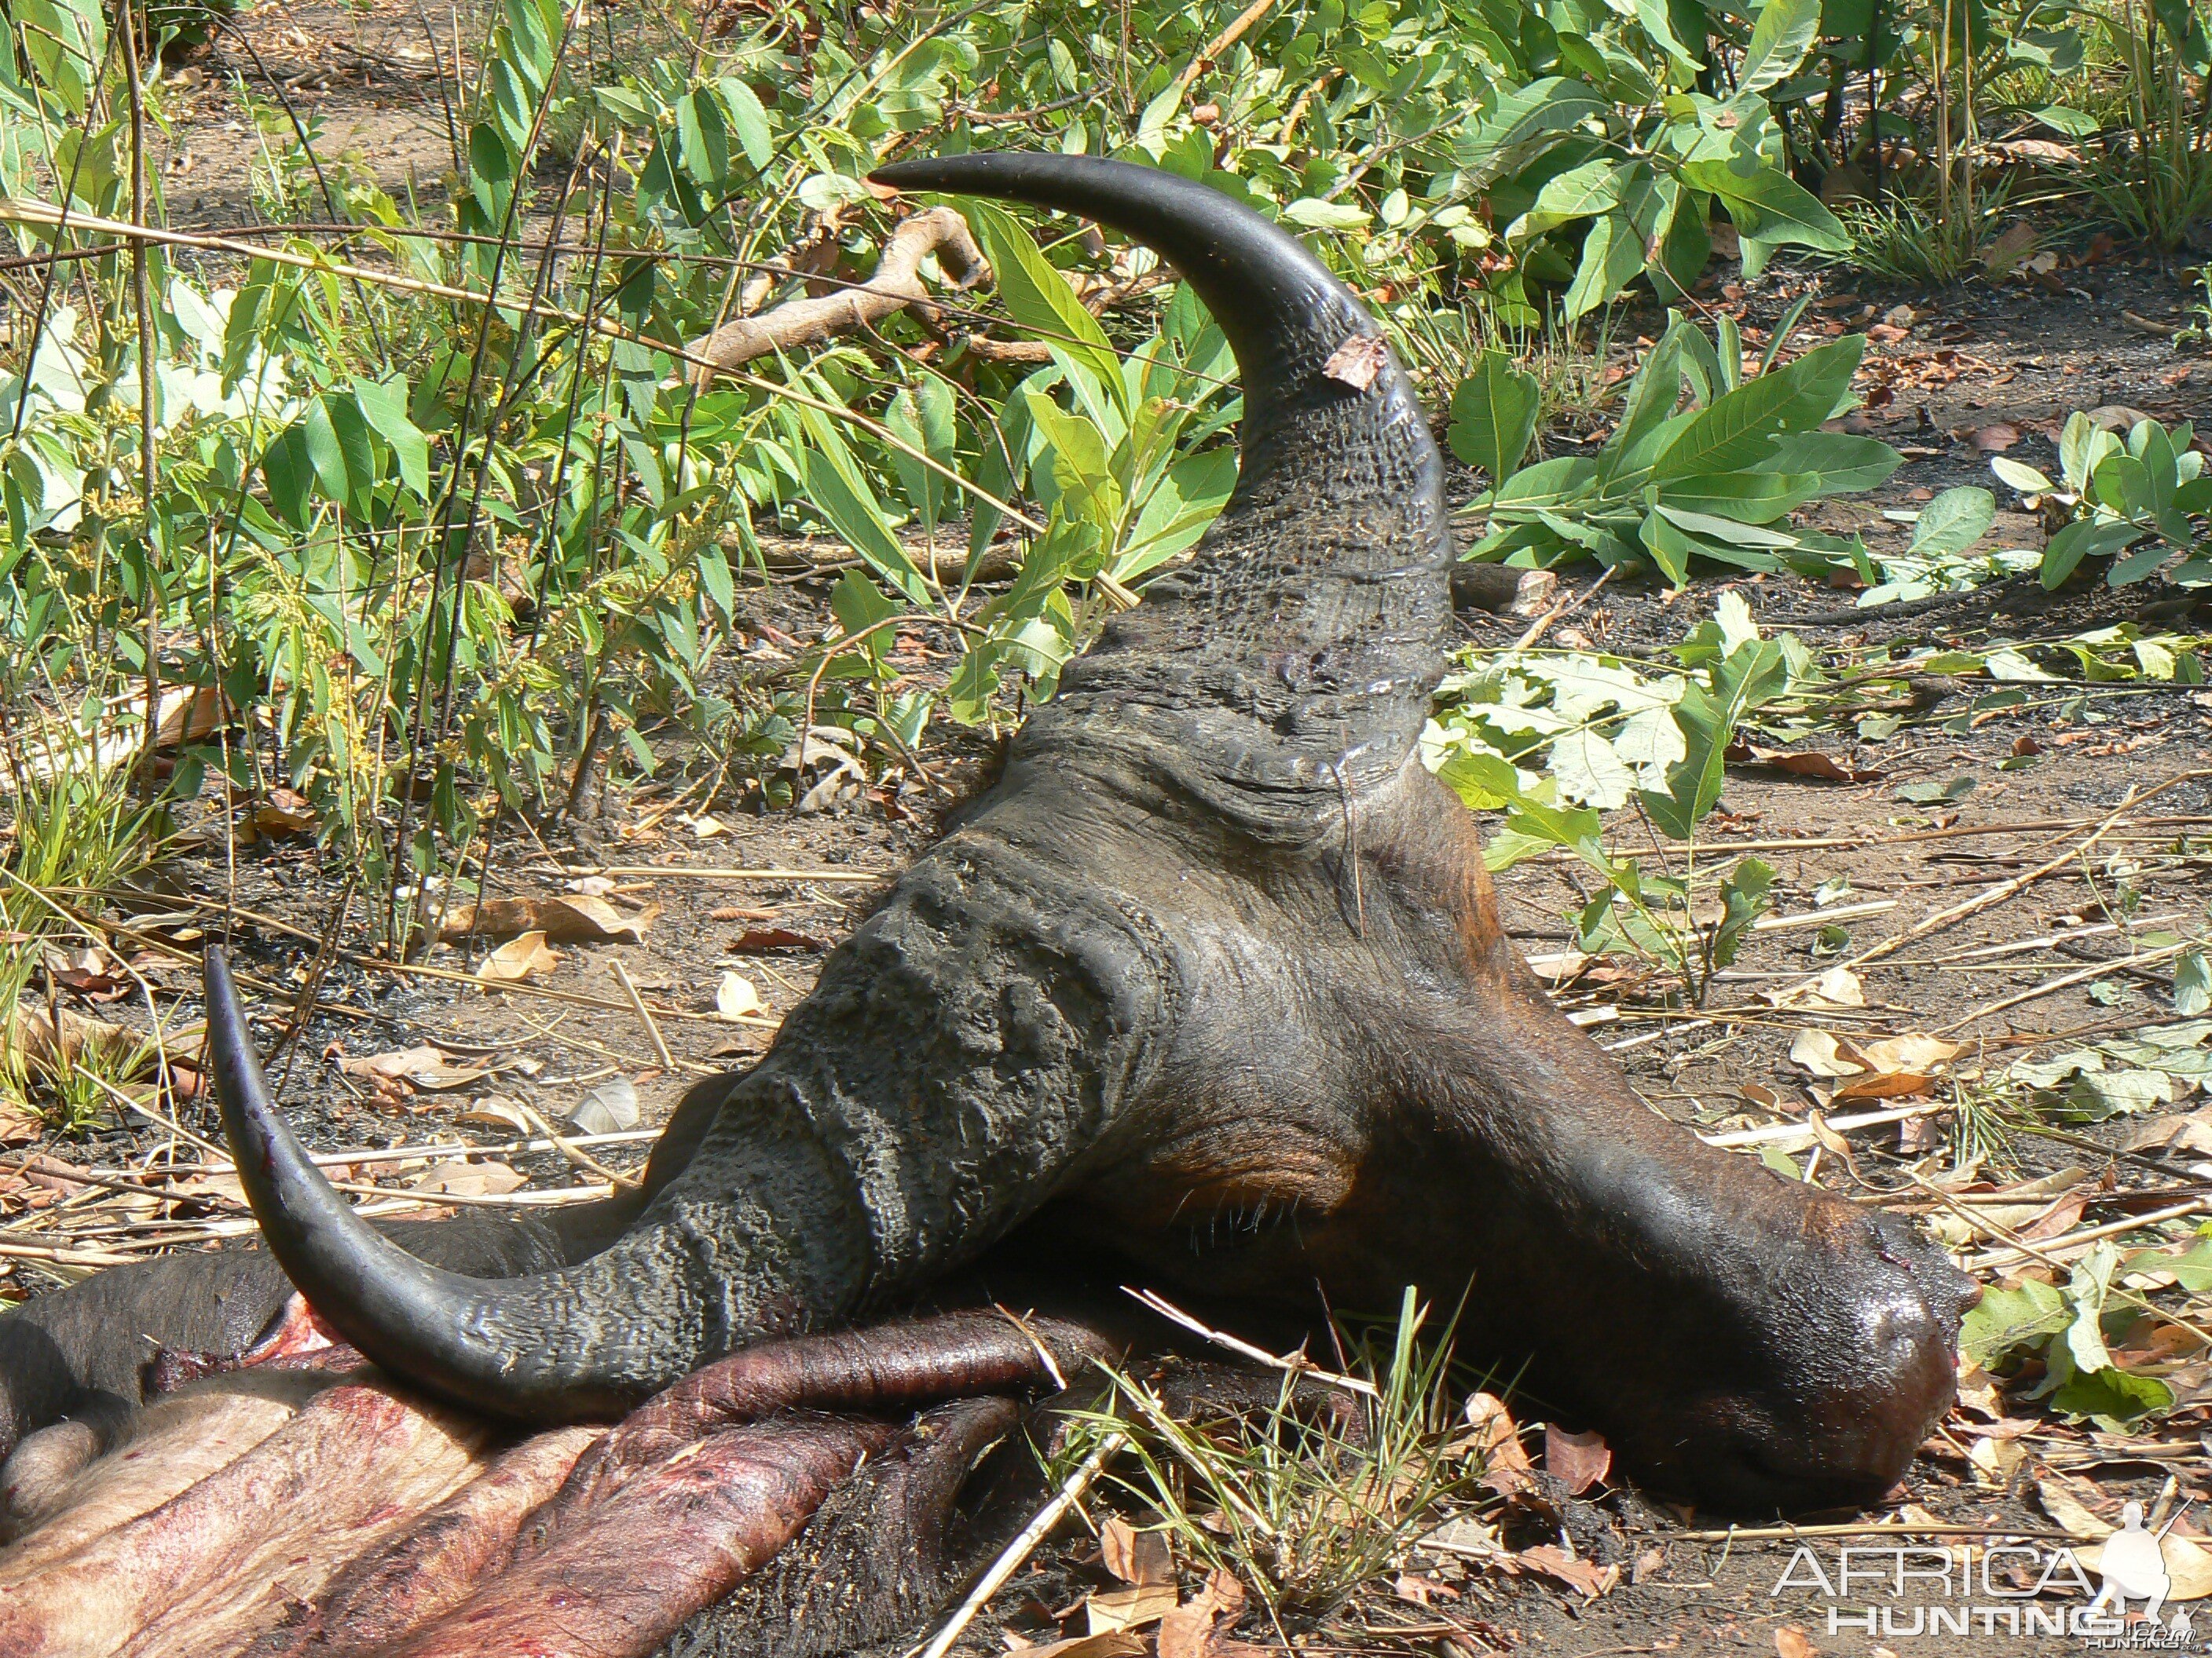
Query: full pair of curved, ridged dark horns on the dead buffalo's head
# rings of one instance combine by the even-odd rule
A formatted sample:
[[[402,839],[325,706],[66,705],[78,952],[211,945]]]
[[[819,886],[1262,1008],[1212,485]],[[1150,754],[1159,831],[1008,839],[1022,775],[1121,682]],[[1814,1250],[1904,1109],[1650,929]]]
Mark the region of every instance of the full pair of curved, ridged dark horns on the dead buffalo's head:
[[[1197,802],[1208,844],[1336,833],[1418,765],[1451,535],[1427,420],[1358,301],[1259,214],[1150,168],[971,155],[878,177],[1091,214],[1175,261],[1245,376],[1237,493],[1190,562],[1068,665],[967,838],[909,869],[823,964],[686,1169],[588,1260],[476,1280],[363,1225],[270,1108],[208,953],[215,1085],[270,1249],[363,1353],[449,1397],[604,1415],[971,1258],[1113,1127],[1148,1032],[1172,1021],[1144,906],[1062,884],[1029,849],[1115,798],[1141,798],[1130,816],[1150,825]],[[1115,783],[1139,774],[1137,794]],[[1062,791],[1024,796],[1040,776]]]

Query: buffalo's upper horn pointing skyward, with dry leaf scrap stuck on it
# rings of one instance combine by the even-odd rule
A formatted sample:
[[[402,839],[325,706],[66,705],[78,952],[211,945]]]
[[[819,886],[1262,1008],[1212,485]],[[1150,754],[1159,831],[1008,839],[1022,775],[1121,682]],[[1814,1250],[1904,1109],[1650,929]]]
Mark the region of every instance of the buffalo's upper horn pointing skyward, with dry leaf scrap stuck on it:
[[[1006,197],[1148,243],[1199,292],[1243,376],[1237,493],[1040,710],[1053,765],[1119,752],[1267,840],[1310,833],[1405,767],[1444,668],[1451,528],[1413,387],[1365,307],[1219,190],[1082,155],[894,161],[898,190]]]

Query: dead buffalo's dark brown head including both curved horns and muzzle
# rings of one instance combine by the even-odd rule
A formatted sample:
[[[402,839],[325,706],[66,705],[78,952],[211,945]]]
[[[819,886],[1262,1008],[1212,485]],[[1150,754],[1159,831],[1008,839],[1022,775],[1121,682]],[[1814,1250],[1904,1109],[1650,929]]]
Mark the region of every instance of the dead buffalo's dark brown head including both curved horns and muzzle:
[[[650,1189],[533,1245],[553,1262],[469,1245],[425,1265],[354,1218],[270,1105],[210,957],[226,1130],[290,1280],[427,1395],[591,1421],[1031,1227],[1252,1302],[1464,1289],[1462,1340],[1533,1355],[1540,1397],[1641,1479],[1741,1512],[1878,1499],[1951,1399],[1973,1291],[1902,1220],[1652,1114],[1526,975],[1475,822],[1416,752],[1451,539],[1405,376],[1327,367],[1374,323],[1296,243],[1168,175],[956,157],[880,177],[1157,245],[1237,349],[1234,500],[1068,665],[774,1050],[688,1096]],[[115,1307],[66,1335],[69,1307],[38,1318],[49,1375],[18,1386],[0,1357],[18,1430],[77,1382],[128,1395],[84,1349]]]

